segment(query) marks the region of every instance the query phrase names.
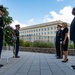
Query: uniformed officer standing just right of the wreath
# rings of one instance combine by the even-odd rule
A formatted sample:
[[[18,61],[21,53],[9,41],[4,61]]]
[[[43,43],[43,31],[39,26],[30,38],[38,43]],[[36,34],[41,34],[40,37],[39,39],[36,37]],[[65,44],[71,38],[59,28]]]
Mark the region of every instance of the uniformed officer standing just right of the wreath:
[[[20,25],[15,25],[16,29],[15,29],[15,33],[16,33],[16,51],[15,51],[15,58],[19,58],[20,56],[18,56],[18,52],[19,52],[19,29],[20,29]]]

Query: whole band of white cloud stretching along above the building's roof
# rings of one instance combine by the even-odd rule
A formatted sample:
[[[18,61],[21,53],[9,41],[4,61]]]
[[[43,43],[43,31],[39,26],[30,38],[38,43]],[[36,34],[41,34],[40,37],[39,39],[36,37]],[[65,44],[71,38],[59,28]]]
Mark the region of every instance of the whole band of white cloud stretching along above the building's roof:
[[[14,20],[14,22],[11,23],[11,26],[15,28],[16,24],[20,24],[21,27],[26,27],[30,25],[35,25],[35,24],[40,24],[40,23],[45,23],[45,22],[51,22],[51,21],[56,21],[56,20],[61,20],[64,22],[71,23],[73,19],[73,15],[71,14],[72,12],[72,7],[71,6],[66,6],[63,9],[59,10],[59,12],[55,11],[50,11],[49,14],[45,15],[43,19],[30,19],[25,22],[25,24],[20,23],[18,20]]]

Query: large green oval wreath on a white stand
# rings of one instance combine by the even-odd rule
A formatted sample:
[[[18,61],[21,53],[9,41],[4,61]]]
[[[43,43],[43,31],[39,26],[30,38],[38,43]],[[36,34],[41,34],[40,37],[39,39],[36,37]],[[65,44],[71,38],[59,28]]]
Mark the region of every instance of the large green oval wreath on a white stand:
[[[11,26],[4,28],[4,41],[9,46],[14,46],[16,42],[16,33]]]

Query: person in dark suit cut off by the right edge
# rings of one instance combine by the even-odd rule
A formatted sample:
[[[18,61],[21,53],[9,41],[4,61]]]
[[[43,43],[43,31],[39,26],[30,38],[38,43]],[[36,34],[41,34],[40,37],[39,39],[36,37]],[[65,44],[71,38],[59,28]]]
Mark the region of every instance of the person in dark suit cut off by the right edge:
[[[72,10],[72,15],[74,15],[74,19],[71,22],[70,26],[70,40],[74,43],[74,50],[75,50],[75,7]],[[72,65],[73,69],[75,69],[75,65]]]

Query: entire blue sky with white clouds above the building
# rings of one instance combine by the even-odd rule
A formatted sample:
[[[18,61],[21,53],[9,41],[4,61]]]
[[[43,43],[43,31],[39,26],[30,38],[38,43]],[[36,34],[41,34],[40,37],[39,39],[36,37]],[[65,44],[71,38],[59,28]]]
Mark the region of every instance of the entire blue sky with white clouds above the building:
[[[0,0],[0,5],[8,8],[12,27],[26,27],[56,20],[71,23],[75,0]]]

